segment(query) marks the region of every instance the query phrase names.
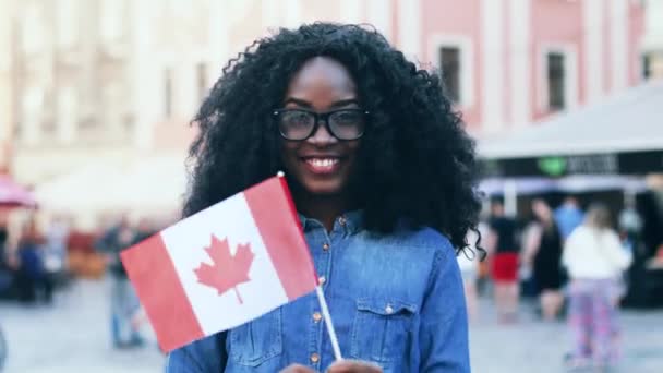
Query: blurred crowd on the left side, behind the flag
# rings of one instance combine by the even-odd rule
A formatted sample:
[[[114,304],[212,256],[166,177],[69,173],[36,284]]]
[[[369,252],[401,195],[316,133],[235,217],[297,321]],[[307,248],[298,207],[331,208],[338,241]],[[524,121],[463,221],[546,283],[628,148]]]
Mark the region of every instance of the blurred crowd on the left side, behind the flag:
[[[53,293],[72,278],[110,277],[110,328],[117,348],[142,345],[137,330],[144,316],[119,257],[171,221],[105,217],[93,231],[80,231],[67,215],[14,209],[0,220],[0,300],[26,306],[51,304]]]

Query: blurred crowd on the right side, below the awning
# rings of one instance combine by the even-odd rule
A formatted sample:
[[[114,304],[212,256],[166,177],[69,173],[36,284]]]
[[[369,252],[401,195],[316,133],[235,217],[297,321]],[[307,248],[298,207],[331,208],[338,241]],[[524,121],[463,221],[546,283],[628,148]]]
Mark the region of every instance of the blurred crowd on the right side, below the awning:
[[[574,336],[569,365],[610,366],[619,360],[618,308],[629,292],[642,291],[634,277],[663,263],[661,217],[641,216],[634,195],[618,212],[596,201],[586,205],[568,195],[553,209],[546,198],[534,197],[529,214],[513,217],[499,197],[492,198],[478,232],[468,237],[472,244],[481,234],[486,260],[460,254],[458,261],[470,320],[480,317],[482,293],[492,297],[505,324],[522,316],[521,300],[533,301],[542,321],[567,318]]]

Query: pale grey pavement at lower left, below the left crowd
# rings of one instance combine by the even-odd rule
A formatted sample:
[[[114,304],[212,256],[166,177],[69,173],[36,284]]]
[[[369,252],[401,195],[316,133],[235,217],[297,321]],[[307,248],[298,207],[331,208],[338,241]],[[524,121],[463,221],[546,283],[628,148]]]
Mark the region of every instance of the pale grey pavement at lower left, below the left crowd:
[[[156,345],[114,350],[110,344],[109,284],[77,281],[50,306],[0,303],[9,345],[4,373],[159,372]]]

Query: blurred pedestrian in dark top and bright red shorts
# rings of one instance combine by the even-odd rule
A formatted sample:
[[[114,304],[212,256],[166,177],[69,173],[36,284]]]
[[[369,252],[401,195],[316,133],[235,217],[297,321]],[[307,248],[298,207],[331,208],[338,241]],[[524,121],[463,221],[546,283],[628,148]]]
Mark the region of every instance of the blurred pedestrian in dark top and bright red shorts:
[[[504,214],[501,200],[491,203],[486,249],[492,253],[491,275],[494,299],[501,322],[514,322],[518,313],[518,255],[516,220]],[[489,256],[490,257],[490,256]]]

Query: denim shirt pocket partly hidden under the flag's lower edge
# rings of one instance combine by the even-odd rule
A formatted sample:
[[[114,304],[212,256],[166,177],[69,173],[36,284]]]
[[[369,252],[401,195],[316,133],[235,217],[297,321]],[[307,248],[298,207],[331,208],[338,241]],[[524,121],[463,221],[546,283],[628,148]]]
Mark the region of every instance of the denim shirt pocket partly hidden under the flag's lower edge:
[[[228,357],[234,363],[258,366],[284,352],[281,309],[276,309],[229,332]]]

